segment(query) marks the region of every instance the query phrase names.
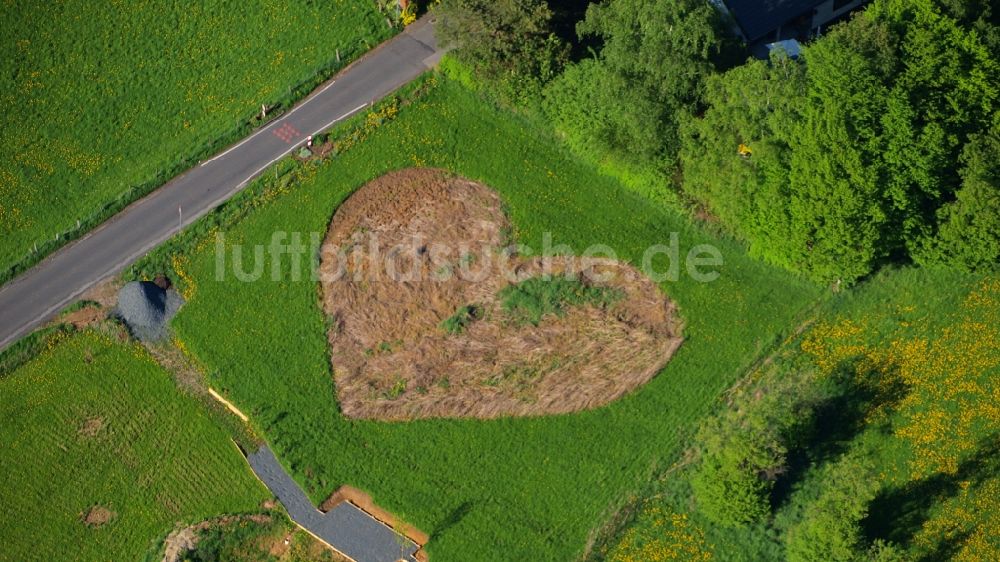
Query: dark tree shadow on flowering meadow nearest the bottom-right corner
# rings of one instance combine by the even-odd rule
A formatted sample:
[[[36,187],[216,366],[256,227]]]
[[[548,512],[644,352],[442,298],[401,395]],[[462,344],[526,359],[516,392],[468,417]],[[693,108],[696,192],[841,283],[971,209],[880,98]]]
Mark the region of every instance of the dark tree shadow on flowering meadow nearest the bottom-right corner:
[[[862,529],[869,540],[881,538],[909,544],[927,522],[934,506],[959,493],[962,483],[972,489],[1000,474],[1000,434],[980,441],[977,451],[954,474],[934,474],[902,487],[885,490],[869,505]],[[968,533],[959,533],[935,546],[923,560],[947,560],[960,548]]]

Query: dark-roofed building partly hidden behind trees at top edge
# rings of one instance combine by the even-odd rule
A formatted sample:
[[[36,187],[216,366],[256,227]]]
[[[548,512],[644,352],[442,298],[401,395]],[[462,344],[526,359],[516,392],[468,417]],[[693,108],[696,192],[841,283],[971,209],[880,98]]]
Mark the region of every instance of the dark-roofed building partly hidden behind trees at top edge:
[[[710,0],[730,16],[748,45],[804,41],[868,0]]]

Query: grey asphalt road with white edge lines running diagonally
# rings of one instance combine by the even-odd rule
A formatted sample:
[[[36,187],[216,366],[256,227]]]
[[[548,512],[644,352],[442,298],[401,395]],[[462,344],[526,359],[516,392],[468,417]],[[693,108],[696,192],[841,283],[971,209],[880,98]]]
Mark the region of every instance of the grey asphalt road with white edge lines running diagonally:
[[[291,111],[174,178],[0,288],[0,349],[50,319],[242,189],[306,137],[361,111],[437,63],[433,22],[416,22]]]

